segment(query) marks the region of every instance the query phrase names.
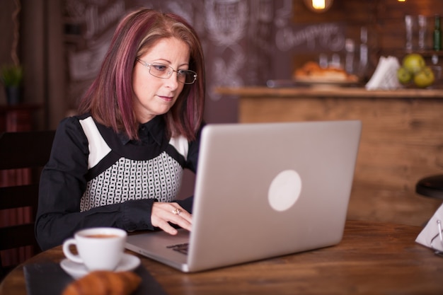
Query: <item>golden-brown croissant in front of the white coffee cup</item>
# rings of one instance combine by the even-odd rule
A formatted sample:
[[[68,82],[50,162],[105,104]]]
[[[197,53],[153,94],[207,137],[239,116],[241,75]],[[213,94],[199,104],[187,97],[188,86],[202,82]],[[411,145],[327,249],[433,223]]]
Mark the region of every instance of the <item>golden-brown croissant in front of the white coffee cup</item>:
[[[96,271],[71,282],[62,295],[130,295],[140,282],[134,272]]]

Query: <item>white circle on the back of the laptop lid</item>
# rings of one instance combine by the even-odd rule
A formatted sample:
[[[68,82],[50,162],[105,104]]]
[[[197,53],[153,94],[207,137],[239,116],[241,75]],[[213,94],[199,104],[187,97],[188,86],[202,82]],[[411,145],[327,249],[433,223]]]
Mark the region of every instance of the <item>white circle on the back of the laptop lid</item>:
[[[301,192],[301,178],[295,170],[283,170],[272,180],[267,192],[267,199],[275,211],[291,208]]]

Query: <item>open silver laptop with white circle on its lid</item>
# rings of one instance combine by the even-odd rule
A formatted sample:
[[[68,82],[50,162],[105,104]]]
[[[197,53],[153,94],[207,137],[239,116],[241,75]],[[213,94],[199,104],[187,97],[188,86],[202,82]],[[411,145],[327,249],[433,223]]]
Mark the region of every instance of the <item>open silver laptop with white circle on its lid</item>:
[[[192,231],[133,234],[126,248],[200,272],[337,245],[361,129],[357,120],[207,125]]]

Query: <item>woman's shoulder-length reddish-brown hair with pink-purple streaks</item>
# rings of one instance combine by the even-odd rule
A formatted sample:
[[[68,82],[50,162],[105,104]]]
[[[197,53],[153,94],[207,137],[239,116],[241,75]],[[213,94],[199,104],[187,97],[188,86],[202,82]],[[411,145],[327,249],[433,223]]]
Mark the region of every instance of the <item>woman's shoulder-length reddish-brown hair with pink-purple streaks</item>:
[[[120,21],[100,72],[79,103],[79,113],[91,112],[100,124],[138,139],[139,123],[132,110],[132,70],[137,57],[169,37],[189,46],[189,69],[197,72],[197,81],[185,84],[178,100],[163,117],[169,136],[181,134],[188,140],[195,139],[205,108],[203,51],[195,30],[172,13],[142,8]]]

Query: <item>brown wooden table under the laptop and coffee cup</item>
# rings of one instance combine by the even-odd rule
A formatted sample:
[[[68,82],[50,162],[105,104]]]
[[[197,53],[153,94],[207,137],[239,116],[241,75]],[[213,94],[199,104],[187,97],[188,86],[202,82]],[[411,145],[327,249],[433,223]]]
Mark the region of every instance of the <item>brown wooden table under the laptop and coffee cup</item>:
[[[418,226],[347,221],[339,245],[306,253],[184,274],[153,260],[142,264],[168,294],[443,294],[443,258],[418,243]],[[59,262],[60,247],[25,264]],[[23,265],[0,294],[23,295]]]

